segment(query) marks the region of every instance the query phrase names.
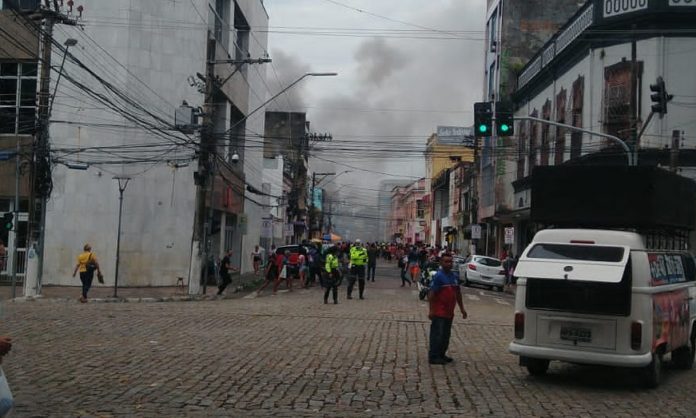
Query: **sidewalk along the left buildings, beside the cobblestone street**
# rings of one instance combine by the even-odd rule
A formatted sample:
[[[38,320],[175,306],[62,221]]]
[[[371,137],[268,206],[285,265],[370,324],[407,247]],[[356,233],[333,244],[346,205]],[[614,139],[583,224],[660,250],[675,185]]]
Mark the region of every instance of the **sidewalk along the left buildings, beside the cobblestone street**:
[[[241,276],[232,276],[232,283],[227,286],[222,297],[217,297],[217,286],[208,285],[206,294],[189,295],[188,287],[184,286],[158,286],[158,287],[120,287],[117,291],[117,297],[114,298],[113,283],[99,284],[94,280],[92,288],[89,291],[90,302],[172,302],[172,301],[190,301],[190,300],[212,300],[212,299],[234,299],[241,297],[239,291],[248,288],[253,288],[261,276],[255,276],[254,273],[245,273]],[[201,292],[203,291],[201,287]],[[15,289],[16,300],[33,301],[33,300],[74,300],[78,302],[82,287],[75,286],[54,286],[44,285],[41,288],[41,295],[35,298],[24,297],[24,288],[22,283],[18,283]],[[12,286],[0,285],[0,300],[7,301],[12,299]]]

